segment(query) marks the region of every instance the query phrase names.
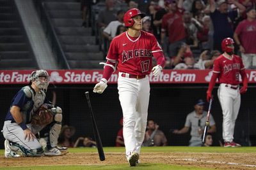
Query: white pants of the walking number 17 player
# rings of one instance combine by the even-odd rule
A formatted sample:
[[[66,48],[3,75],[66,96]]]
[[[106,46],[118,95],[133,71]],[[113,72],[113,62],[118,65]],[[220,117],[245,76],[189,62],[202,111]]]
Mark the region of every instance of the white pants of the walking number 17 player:
[[[124,143],[126,156],[140,154],[148,116],[150,85],[148,76],[137,80],[118,76],[118,94],[124,117]]]

